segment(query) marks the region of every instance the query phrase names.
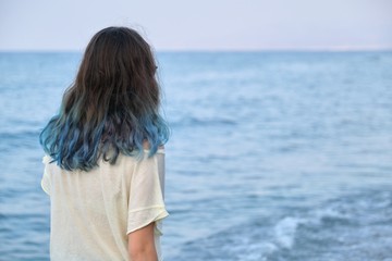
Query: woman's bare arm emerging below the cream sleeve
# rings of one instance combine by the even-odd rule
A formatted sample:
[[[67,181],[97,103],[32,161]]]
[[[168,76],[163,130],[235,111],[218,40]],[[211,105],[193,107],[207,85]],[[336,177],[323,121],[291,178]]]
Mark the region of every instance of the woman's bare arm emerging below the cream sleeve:
[[[155,222],[128,234],[128,253],[131,261],[157,261],[154,238]]]

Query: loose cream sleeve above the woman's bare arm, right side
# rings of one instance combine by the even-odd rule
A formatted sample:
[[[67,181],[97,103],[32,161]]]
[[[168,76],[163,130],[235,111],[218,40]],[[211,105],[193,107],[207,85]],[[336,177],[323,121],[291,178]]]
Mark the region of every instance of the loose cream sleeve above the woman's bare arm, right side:
[[[162,220],[169,215],[163,201],[164,152],[147,156],[145,152],[133,173],[126,234],[155,222],[155,233],[162,235]]]

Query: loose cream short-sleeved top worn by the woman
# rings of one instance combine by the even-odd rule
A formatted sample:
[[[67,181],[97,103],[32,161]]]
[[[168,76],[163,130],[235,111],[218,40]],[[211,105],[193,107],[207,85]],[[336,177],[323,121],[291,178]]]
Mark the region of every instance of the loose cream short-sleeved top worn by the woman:
[[[65,171],[45,156],[42,189],[50,196],[50,259],[128,260],[127,234],[155,222],[158,260],[163,201],[164,150],[143,160],[119,154],[88,172]]]

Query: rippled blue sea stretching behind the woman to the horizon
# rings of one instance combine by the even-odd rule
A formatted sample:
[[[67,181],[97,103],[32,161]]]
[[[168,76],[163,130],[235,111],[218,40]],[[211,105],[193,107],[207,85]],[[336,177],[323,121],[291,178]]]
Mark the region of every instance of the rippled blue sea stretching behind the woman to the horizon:
[[[166,260],[392,260],[392,52],[158,53]],[[0,260],[49,259],[38,134],[81,53],[0,53]]]

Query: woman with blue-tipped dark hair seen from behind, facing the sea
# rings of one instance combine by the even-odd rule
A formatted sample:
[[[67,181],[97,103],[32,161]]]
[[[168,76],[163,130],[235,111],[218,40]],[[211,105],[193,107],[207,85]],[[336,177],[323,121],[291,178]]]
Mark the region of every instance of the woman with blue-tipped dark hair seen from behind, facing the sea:
[[[169,129],[156,70],[131,28],[105,28],[88,44],[40,134],[51,260],[161,260]]]

